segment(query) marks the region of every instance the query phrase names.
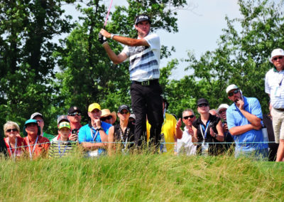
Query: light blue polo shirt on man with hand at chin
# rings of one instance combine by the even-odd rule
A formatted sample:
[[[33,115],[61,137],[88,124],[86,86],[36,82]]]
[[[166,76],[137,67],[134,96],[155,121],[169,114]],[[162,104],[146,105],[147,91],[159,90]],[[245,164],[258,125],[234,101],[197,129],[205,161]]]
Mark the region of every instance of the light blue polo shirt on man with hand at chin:
[[[261,112],[261,104],[255,97],[244,97],[244,110],[249,112],[256,117],[263,119]],[[241,114],[238,107],[233,103],[228,110],[226,110],[226,121],[228,124],[228,129],[237,126],[243,126],[246,124],[251,124],[243,114]],[[268,144],[263,143],[263,134],[261,129],[251,129],[243,134],[232,135],[236,143],[236,150],[239,151],[253,151],[256,149],[266,149]],[[256,142],[256,143],[246,143],[246,142]]]

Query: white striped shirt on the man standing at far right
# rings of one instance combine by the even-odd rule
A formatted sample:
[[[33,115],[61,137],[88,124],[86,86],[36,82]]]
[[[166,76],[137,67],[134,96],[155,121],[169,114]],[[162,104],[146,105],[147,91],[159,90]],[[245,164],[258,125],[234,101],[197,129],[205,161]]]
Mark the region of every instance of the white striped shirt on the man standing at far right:
[[[273,68],[266,73],[266,93],[271,95],[273,108],[284,109],[284,70]]]

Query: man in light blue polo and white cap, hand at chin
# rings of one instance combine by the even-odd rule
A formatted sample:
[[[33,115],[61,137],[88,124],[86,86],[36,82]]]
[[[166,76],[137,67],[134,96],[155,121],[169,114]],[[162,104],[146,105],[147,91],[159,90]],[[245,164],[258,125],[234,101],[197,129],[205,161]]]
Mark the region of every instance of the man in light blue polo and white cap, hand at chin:
[[[235,156],[267,158],[268,144],[263,143],[260,103],[255,97],[244,97],[234,84],[226,87],[226,93],[234,102],[226,110],[226,119],[229,132],[236,142]]]

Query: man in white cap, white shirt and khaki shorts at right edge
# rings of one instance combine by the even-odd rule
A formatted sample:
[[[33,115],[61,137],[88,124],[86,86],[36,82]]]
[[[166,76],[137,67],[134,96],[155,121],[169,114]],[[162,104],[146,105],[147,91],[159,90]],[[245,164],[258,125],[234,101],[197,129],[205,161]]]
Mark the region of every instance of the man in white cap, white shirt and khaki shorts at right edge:
[[[275,142],[279,143],[276,161],[284,161],[284,50],[274,49],[270,61],[274,68],[266,73],[266,93],[271,98]]]

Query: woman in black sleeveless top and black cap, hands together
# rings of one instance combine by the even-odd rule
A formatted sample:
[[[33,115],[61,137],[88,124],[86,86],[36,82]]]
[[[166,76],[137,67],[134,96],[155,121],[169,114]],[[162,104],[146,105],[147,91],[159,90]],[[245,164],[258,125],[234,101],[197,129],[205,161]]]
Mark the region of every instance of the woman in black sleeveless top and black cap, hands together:
[[[222,145],[211,144],[212,142],[224,142],[221,119],[209,113],[209,103],[204,98],[197,100],[197,111],[200,117],[192,123],[194,133],[192,142],[202,142],[202,145],[197,144],[197,154],[207,152],[209,155],[221,154]]]

